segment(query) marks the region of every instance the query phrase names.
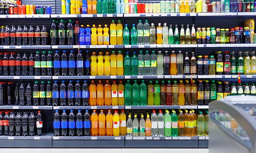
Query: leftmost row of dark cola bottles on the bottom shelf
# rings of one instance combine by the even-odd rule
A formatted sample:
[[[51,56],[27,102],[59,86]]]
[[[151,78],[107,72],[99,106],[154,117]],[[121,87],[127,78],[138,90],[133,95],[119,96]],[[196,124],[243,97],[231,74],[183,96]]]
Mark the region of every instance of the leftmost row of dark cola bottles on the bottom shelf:
[[[0,136],[42,136],[42,128],[41,111],[0,111]]]

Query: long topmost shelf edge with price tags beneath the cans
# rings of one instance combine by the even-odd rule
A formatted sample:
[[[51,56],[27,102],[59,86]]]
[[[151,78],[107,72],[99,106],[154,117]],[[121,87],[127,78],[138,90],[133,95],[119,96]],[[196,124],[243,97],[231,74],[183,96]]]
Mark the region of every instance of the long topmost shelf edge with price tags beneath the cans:
[[[0,18],[74,18],[74,17],[151,17],[151,16],[255,16],[256,12],[227,13],[132,13],[132,14],[34,14],[34,15],[0,15]]]

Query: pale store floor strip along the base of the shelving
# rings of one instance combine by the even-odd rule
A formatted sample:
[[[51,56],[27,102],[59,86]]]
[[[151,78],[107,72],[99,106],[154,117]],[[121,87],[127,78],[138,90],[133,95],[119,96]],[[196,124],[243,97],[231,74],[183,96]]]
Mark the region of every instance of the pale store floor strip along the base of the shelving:
[[[208,153],[208,149],[30,149],[30,148],[1,148],[1,152],[11,153]]]

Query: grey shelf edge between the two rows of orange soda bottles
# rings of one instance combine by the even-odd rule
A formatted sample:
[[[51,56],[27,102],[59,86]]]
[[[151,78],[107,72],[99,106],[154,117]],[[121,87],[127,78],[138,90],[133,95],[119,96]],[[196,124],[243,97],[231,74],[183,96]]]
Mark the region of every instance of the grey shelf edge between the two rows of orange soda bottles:
[[[124,105],[118,106],[53,106],[53,109],[124,109]]]

